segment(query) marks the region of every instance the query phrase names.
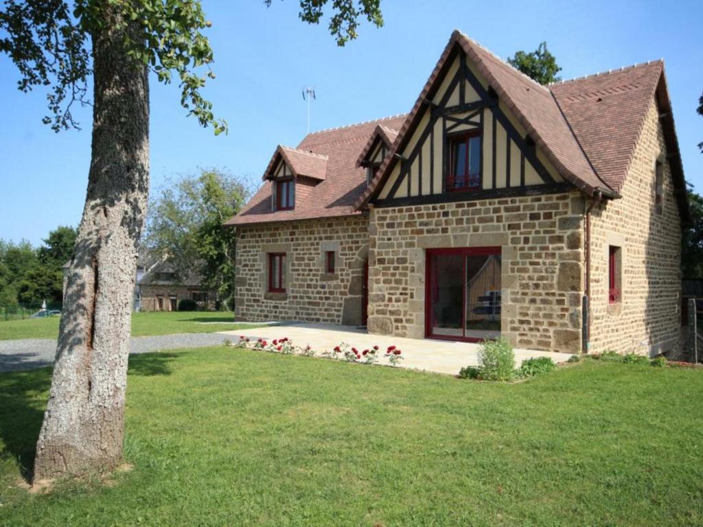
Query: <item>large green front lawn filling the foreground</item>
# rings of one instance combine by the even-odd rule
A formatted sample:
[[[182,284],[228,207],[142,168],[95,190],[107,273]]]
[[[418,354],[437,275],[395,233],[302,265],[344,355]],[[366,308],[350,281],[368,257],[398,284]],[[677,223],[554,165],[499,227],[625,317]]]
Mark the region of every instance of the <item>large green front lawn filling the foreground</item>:
[[[50,370],[0,375],[1,526],[703,524],[703,372],[495,384],[214,347],[131,356],[110,485],[18,486]]]

